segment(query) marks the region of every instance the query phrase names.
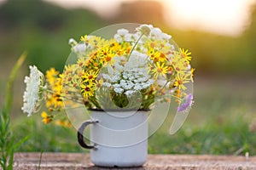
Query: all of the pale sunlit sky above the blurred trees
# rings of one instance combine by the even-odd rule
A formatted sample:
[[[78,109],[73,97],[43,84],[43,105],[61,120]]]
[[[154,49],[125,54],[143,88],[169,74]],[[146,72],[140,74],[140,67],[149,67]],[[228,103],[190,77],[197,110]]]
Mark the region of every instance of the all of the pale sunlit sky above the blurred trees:
[[[4,0],[0,0],[4,1]],[[102,17],[118,13],[122,2],[134,0],[44,0],[65,8],[92,8]],[[249,22],[249,8],[256,0],[157,0],[164,3],[164,15],[170,26],[200,29],[237,36]],[[152,11],[154,12],[154,11]]]

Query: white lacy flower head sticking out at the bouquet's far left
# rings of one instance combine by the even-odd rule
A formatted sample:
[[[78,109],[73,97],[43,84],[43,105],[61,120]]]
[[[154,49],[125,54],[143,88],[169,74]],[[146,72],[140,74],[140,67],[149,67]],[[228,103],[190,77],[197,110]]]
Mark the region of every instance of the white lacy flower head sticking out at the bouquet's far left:
[[[29,66],[30,75],[25,77],[26,90],[23,95],[23,106],[21,110],[31,116],[33,112],[37,111],[40,101],[40,85],[43,85],[43,74],[38,71],[38,68],[33,65]]]

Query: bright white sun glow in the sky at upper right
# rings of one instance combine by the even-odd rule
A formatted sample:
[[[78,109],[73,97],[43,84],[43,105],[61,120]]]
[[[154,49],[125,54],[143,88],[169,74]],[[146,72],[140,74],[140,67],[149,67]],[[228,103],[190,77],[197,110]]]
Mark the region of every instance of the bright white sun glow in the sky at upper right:
[[[181,29],[196,28],[236,36],[249,20],[253,0],[169,0],[166,20]],[[170,19],[171,17],[171,19]]]

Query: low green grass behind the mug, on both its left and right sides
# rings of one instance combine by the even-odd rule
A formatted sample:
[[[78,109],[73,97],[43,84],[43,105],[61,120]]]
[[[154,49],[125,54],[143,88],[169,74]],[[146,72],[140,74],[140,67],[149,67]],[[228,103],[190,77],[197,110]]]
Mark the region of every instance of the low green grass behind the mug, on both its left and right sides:
[[[212,116],[210,121],[201,120],[199,124],[189,118],[174,135],[168,134],[170,123],[165,122],[149,138],[149,153],[244,155],[248,151],[250,155],[256,154],[256,133],[250,131],[251,122],[245,116],[236,113]],[[19,121],[14,132],[16,139],[28,137],[18,151],[85,152],[77,143],[73,127],[44,125],[39,117]]]

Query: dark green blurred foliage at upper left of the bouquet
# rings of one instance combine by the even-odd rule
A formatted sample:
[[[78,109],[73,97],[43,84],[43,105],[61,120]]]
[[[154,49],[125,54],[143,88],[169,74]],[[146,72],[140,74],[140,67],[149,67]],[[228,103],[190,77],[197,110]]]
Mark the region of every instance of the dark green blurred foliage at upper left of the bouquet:
[[[63,68],[70,53],[68,39],[104,26],[90,10],[67,10],[40,0],[9,0],[0,6],[0,59],[24,49],[28,62],[45,71]]]

